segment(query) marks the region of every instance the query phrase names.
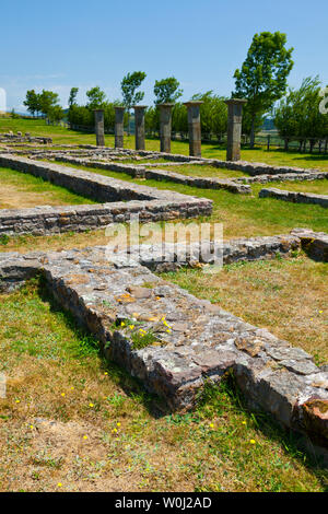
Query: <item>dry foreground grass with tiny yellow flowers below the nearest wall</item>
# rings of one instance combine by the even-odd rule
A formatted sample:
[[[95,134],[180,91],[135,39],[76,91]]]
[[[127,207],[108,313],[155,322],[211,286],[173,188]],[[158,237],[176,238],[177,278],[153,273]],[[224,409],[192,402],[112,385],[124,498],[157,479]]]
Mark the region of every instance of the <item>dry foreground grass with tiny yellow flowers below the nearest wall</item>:
[[[36,280],[1,295],[0,339],[1,491],[327,491],[295,436],[232,384],[207,387],[192,413],[156,416]]]

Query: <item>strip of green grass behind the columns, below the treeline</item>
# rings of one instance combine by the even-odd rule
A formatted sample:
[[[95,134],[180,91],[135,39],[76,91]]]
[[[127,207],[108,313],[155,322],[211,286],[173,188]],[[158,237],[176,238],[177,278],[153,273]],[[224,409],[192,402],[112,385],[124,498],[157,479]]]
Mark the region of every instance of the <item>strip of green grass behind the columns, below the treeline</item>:
[[[43,119],[12,119],[12,118],[0,118],[0,133],[22,131],[30,132],[32,136],[48,136],[51,137],[54,143],[73,143],[73,144],[95,144],[95,135],[83,133],[74,130],[68,130],[63,127],[55,127],[46,125]],[[106,145],[114,147],[114,136],[106,136]],[[125,137],[125,148],[134,148],[134,137]],[[159,139],[148,139],[145,141],[147,150],[160,151]],[[188,155],[189,144],[186,141],[172,141],[172,152],[181,153]],[[225,160],[225,149],[218,144],[202,144],[202,156],[209,159],[222,159]],[[328,155],[318,154],[301,154],[298,152],[284,152],[283,150],[270,150],[269,152],[265,149],[243,149],[242,159],[245,161],[254,162],[266,162],[272,165],[291,165],[300,167],[316,167],[319,170],[328,171]]]

